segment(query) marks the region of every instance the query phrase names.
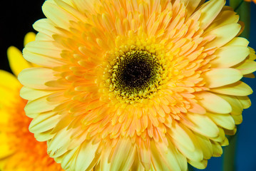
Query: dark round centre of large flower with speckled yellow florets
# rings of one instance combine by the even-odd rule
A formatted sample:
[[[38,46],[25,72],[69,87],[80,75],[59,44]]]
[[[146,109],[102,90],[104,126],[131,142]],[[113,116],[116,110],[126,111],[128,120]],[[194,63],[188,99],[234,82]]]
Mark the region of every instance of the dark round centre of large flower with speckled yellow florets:
[[[133,48],[113,58],[108,73],[109,91],[126,103],[153,98],[162,82],[163,66],[158,54]]]

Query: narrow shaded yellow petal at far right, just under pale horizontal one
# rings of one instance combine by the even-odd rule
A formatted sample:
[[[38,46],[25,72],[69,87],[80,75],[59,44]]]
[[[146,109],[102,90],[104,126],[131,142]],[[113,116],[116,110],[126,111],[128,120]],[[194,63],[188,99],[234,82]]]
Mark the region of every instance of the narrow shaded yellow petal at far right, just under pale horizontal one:
[[[237,83],[232,83],[227,86],[222,86],[219,88],[211,88],[210,91],[226,95],[239,95],[245,96],[252,94],[252,88],[242,81],[237,81]]]

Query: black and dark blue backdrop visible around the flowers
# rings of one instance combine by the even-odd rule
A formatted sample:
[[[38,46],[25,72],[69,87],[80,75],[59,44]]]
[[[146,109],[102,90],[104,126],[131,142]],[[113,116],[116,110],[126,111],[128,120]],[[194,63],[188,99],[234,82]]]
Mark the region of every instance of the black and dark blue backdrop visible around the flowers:
[[[0,69],[11,72],[6,57],[9,46],[23,48],[24,36],[29,31],[34,31],[32,24],[44,18],[41,11],[43,0],[5,1],[0,10]],[[252,3],[251,11],[250,46],[256,48],[256,5]],[[256,78],[246,79],[252,89],[256,90]],[[236,167],[237,171],[256,170],[256,93],[250,95],[252,106],[243,113],[243,122],[238,131]],[[205,170],[222,170],[222,157],[213,157],[208,162]]]

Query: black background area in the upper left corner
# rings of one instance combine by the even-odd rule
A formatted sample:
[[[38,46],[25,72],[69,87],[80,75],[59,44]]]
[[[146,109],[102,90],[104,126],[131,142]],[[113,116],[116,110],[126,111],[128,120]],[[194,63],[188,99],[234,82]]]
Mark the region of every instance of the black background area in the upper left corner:
[[[32,24],[38,19],[45,18],[45,16],[41,10],[43,0],[9,0],[4,2],[1,4],[0,10],[0,68],[10,71],[6,49],[9,46],[16,46],[22,50],[25,34],[34,31]]]

